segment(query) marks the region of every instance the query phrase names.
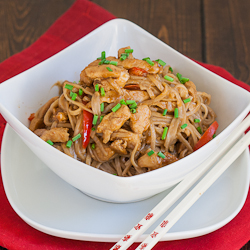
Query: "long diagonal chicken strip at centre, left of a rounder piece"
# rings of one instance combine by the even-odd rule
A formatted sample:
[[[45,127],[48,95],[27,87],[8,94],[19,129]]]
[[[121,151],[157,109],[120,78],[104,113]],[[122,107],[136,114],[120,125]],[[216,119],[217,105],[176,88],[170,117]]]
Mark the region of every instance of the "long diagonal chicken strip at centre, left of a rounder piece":
[[[131,112],[126,105],[122,105],[116,112],[104,116],[96,131],[97,133],[103,133],[103,143],[107,143],[111,134],[120,129],[130,116]]]

